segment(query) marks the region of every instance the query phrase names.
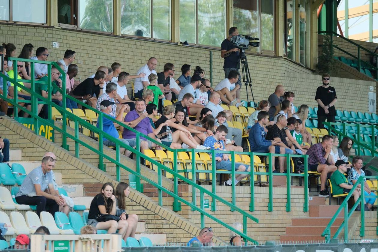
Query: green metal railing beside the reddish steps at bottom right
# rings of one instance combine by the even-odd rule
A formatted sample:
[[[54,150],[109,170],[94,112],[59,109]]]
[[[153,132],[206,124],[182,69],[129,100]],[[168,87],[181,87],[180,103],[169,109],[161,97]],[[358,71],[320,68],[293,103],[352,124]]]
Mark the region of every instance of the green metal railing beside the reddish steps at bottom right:
[[[374,196],[370,196],[370,195],[366,196],[366,195],[364,195],[364,191],[365,191],[365,184],[364,184],[365,181],[364,181],[364,179],[365,178],[378,179],[378,176],[360,176],[358,178],[358,180],[356,181],[356,183],[354,184],[354,186],[352,187],[352,189],[350,190],[350,192],[345,197],[344,201],[341,203],[340,207],[336,211],[335,215],[333,215],[333,217],[330,220],[330,222],[328,223],[327,227],[325,227],[325,229],[324,229],[324,231],[322,233],[322,237],[325,237],[325,241],[326,242],[330,242],[331,239],[337,239],[338,236],[340,235],[340,232],[343,229],[344,229],[344,240],[347,241],[349,239],[349,232],[348,232],[349,231],[348,230],[349,218],[350,218],[350,216],[352,216],[353,212],[356,210],[356,207],[358,205],[361,206],[361,212],[360,212],[360,216],[361,216],[361,229],[359,231],[359,235],[360,235],[360,237],[364,237],[365,236],[365,207],[364,207],[365,198],[375,198],[375,199],[378,198],[377,195],[374,195]],[[353,204],[352,208],[348,212],[348,201],[352,197],[353,192],[357,189],[358,186],[360,186],[360,188],[361,188],[361,195],[359,196],[358,200],[355,202],[355,204]],[[336,218],[338,218],[338,216],[342,212],[344,213],[344,221],[341,223],[340,227],[336,230],[336,232],[333,235],[333,237],[331,237],[331,227],[335,223]],[[377,212],[377,214],[378,214],[378,212]],[[377,230],[377,235],[378,235],[378,224],[377,224],[377,229],[376,230]]]

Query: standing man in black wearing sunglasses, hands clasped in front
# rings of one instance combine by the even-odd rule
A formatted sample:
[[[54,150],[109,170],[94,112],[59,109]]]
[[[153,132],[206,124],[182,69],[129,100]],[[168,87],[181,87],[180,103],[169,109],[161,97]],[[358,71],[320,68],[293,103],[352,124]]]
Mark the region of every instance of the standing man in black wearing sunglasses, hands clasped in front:
[[[323,122],[327,119],[327,122],[335,122],[336,108],[335,103],[337,101],[336,90],[329,85],[330,75],[322,75],[323,85],[316,90],[315,100],[318,102],[318,128],[324,128]]]

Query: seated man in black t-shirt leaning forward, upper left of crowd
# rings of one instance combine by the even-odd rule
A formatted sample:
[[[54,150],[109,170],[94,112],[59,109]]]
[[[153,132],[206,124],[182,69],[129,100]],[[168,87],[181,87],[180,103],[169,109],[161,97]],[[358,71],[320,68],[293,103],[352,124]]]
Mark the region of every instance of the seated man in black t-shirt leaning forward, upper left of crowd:
[[[105,84],[105,72],[97,71],[94,78],[85,79],[72,91],[72,96],[87,100],[87,104],[96,108],[97,98],[103,93]],[[94,97],[96,95],[96,97]]]

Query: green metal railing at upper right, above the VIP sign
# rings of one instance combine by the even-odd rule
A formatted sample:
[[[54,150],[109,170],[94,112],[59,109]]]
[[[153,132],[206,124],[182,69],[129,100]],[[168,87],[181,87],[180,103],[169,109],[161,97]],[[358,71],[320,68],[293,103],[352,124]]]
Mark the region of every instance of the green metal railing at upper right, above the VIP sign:
[[[352,57],[353,59],[356,59],[358,60],[358,64],[357,64],[357,70],[360,71],[361,70],[361,64],[362,64],[362,67],[363,68],[370,68],[370,69],[373,69],[375,71],[375,76],[378,76],[378,54],[376,53],[373,53],[372,51],[370,51],[369,49],[366,49],[364,48],[363,46],[361,45],[358,45],[357,43],[353,42],[352,40],[350,39],[347,39],[343,36],[341,36],[340,34],[337,34],[336,32],[334,31],[318,31],[318,34],[326,34],[326,35],[329,35],[330,36],[330,41],[331,41],[331,44],[334,48],[342,51],[343,53],[349,55],[350,57]],[[357,56],[349,53],[348,51],[345,51],[344,49],[340,48],[338,45],[334,45],[333,44],[333,36],[336,36],[336,37],[340,37],[341,39],[347,41],[348,43],[352,44],[352,45],[355,45],[357,46]],[[366,53],[368,53],[369,55],[375,57],[376,59],[376,64],[375,66],[373,66],[372,64],[370,64],[370,62],[366,62],[364,60],[361,60],[361,51],[365,51]]]

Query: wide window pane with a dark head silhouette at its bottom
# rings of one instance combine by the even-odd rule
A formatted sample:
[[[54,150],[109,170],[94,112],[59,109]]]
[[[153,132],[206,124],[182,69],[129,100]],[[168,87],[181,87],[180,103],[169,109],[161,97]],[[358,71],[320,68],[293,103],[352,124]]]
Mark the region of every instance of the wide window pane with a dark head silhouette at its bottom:
[[[121,33],[151,37],[150,0],[121,0]]]

